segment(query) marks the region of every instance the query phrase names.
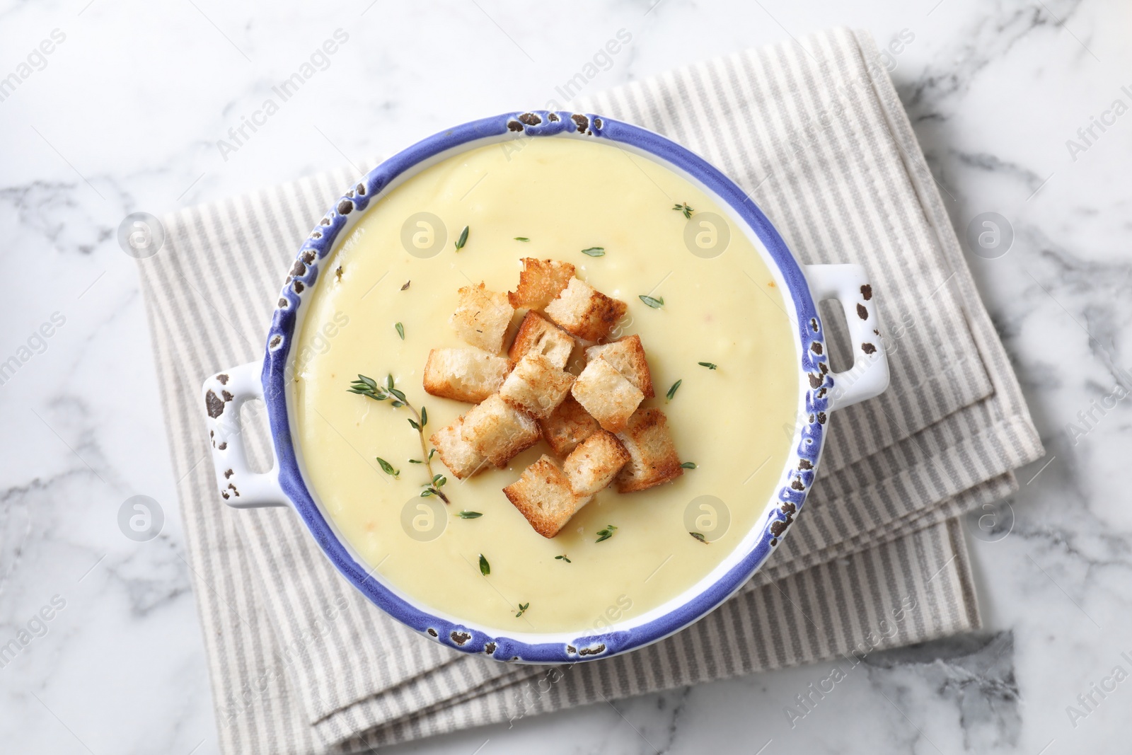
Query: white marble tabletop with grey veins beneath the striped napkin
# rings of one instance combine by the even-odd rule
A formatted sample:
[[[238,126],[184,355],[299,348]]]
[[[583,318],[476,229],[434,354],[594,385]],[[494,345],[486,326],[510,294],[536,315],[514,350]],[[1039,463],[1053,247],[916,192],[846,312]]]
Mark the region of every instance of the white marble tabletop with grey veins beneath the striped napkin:
[[[1132,7],[653,2],[0,3],[0,77],[15,74],[0,78],[0,362],[18,361],[0,385],[0,645],[31,636],[0,660],[0,749],[217,750],[149,334],[115,240],[127,213],[541,108],[619,29],[631,43],[586,87],[846,24],[914,36],[892,76],[957,231],[985,212],[1013,228],[1009,252],[970,264],[1049,456],[969,517],[986,632],[874,655],[794,728],[783,707],[821,666],[398,752],[1126,752]],[[338,28],[326,70],[256,115]],[[245,117],[261,125],[237,143]],[[164,508],[148,542],[119,529],[135,495]]]

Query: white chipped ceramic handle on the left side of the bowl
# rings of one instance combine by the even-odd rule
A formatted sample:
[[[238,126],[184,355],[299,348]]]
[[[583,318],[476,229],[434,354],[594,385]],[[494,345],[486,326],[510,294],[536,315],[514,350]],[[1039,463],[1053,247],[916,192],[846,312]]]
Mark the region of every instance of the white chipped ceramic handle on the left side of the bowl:
[[[249,398],[264,397],[263,362],[249,362],[217,372],[200,388],[212,444],[213,466],[220,495],[232,508],[288,506],[278,482],[278,460],[272,452],[272,469],[252,472],[243,444],[240,407]]]

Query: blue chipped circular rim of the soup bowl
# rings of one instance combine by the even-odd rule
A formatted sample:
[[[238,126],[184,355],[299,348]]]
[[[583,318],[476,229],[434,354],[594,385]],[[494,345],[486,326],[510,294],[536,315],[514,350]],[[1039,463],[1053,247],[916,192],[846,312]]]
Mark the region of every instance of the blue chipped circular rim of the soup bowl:
[[[698,181],[722,199],[732,213],[732,220],[740,220],[751,226],[770,252],[789,289],[797,334],[801,341],[801,370],[808,378],[808,386],[804,386],[807,415],[795,434],[797,445],[790,457],[789,471],[775,496],[778,507],[771,509],[770,515],[756,525],[762,527],[762,533],[751,550],[719,580],[674,610],[637,626],[583,635],[566,643],[528,643],[506,635],[491,635],[429,614],[372,578],[369,570],[350,555],[323,516],[299,470],[288,414],[285,376],[299,310],[305,294],[314,290],[319,263],[332,251],[343,230],[352,228],[370,201],[381,196],[383,189],[403,173],[413,171],[420,163],[446,156],[445,153],[479,146],[474,144],[478,141],[498,140],[506,136],[521,138],[556,135],[625,144],[652,155],[662,164],[674,166]],[[354,217],[351,218],[350,215]],[[354,587],[393,618],[455,650],[486,653],[507,661],[572,663],[608,658],[663,640],[706,616],[762,566],[801,511],[817,471],[833,391],[833,377],[830,375],[825,353],[822,320],[805,274],[782,237],[734,181],[702,157],[653,131],[593,113],[539,110],[483,118],[435,134],[386,160],[340,197],[300,248],[286,277],[267,335],[261,379],[278,460],[280,486],[323,552]]]

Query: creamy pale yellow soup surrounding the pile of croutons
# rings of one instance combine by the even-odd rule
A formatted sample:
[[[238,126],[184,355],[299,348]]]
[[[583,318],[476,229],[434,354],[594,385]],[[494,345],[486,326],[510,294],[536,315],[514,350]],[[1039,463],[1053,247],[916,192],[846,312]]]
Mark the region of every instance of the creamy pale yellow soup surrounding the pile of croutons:
[[[755,524],[790,451],[798,402],[792,331],[752,242],[732,228],[719,257],[691,254],[688,221],[672,209],[678,203],[694,208],[693,221],[726,216],[686,179],[614,145],[525,138],[456,155],[394,188],[323,263],[292,351],[297,440],[316,498],[393,589],[487,628],[583,634],[677,597]],[[446,226],[445,246],[431,258],[408,254],[402,242],[406,218],[421,212]],[[465,225],[468,242],[457,251]],[[424,234],[415,242],[427,247],[428,229],[414,228]],[[582,254],[592,247],[606,255]],[[550,453],[543,441],[507,469],[464,481],[435,456],[435,471],[448,479],[445,507],[419,497],[428,474],[409,462],[422,454],[406,410],[346,391],[358,374],[379,381],[392,374],[411,404],[427,407],[427,435],[466,412],[469,404],[424,393],[429,350],[466,345],[448,323],[457,289],[483,281],[514,290],[526,256],[572,263],[581,278],[628,304],[618,333],[640,335],[648,353],[657,397],[644,405],[664,412],[680,458],[696,464],[650,490],[607,488],[552,539],[531,529],[503,494]],[[650,308],[638,294],[663,299],[663,307]],[[383,472],[377,457],[400,475]],[[461,511],[482,516],[461,518]],[[608,524],[614,535],[597,542]]]

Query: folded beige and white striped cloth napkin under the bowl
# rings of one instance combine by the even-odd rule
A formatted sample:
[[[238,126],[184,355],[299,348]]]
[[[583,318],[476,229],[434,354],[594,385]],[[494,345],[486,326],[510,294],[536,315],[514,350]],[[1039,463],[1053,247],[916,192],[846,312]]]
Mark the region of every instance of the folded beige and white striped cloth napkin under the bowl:
[[[224,507],[201,463],[198,387],[261,355],[281,273],[355,177],[164,218],[142,280],[224,752],[355,752],[978,626],[953,517],[1014,490],[1011,470],[1041,446],[877,60],[866,35],[837,29],[575,105],[705,156],[804,261],[865,264],[894,344],[892,387],[834,413],[807,511],[766,567],[707,618],[619,658],[548,669],[440,647],[357,595],[289,511]],[[263,457],[266,441],[251,445]]]

